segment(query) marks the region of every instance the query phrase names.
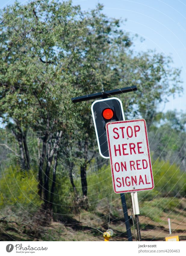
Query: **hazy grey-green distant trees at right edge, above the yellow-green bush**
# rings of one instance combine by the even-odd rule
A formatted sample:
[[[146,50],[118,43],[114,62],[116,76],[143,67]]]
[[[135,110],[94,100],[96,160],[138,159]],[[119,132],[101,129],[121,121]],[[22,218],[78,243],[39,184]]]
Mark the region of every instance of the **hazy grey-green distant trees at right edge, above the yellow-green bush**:
[[[169,160],[186,170],[186,116],[183,112],[159,113],[148,133],[154,159]]]

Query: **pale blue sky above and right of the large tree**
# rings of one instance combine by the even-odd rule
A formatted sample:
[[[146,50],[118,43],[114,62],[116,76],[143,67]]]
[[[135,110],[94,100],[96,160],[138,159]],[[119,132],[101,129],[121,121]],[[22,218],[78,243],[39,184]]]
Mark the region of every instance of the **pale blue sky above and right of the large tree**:
[[[26,1],[20,0],[21,3]],[[104,13],[109,17],[126,19],[123,26],[127,32],[138,33],[145,41],[147,49],[156,49],[165,55],[171,55],[174,66],[182,68],[181,80],[184,82],[184,94],[162,105],[162,110],[177,109],[186,112],[186,2],[175,0],[82,0],[73,1],[81,5],[82,9],[92,9],[100,2],[104,4]],[[14,3],[14,0],[1,0],[0,7]],[[135,49],[141,50],[139,40],[134,42]]]

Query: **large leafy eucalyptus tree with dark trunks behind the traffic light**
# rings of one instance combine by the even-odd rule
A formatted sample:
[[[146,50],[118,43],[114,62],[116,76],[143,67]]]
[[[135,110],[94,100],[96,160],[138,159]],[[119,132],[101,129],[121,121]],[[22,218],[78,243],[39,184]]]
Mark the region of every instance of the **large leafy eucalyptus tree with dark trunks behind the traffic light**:
[[[117,19],[103,14],[103,6],[82,11],[71,1],[15,2],[1,11],[0,117],[14,132],[22,165],[29,170],[27,134],[38,139],[39,195],[45,207],[54,194],[55,169],[65,133],[74,133],[80,159],[83,196],[87,194],[87,163],[96,156],[91,125],[91,102],[73,104],[71,97],[115,87],[137,85],[138,92],[121,96],[128,116],[143,116],[148,124],[155,104],[180,91],[179,70],[170,58],[146,51],[136,53],[132,36]],[[77,160],[75,158],[74,162]],[[53,178],[50,175],[54,169]],[[52,182],[53,179],[53,182]],[[51,189],[50,189],[51,184]]]

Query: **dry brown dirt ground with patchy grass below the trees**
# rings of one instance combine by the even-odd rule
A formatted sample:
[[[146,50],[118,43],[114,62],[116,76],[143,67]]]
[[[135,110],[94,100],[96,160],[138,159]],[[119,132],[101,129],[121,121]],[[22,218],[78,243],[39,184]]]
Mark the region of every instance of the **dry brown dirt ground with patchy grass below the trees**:
[[[183,198],[182,201],[186,205],[186,199]],[[130,212],[129,209],[129,215]],[[171,220],[171,236],[178,235],[180,241],[186,241],[185,208],[176,208],[170,213],[163,212],[160,222],[139,216],[141,240],[165,241],[165,237],[169,236],[168,218]],[[136,241],[134,219],[130,222],[133,241]],[[114,235],[110,241],[127,241],[122,209],[119,209],[119,217],[116,217],[104,208],[93,212],[82,210],[80,214],[69,220],[54,222],[51,219],[48,225],[35,224],[33,229],[21,225],[13,217],[3,219],[0,216],[0,241],[104,241],[102,233],[97,228],[101,232],[105,232],[108,228],[113,229]]]

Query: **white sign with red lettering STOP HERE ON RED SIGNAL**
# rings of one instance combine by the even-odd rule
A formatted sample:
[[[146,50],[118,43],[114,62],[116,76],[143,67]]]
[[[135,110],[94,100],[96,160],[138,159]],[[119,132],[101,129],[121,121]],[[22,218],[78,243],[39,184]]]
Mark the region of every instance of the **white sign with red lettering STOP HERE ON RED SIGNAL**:
[[[114,192],[153,189],[145,120],[108,122],[106,131]]]

